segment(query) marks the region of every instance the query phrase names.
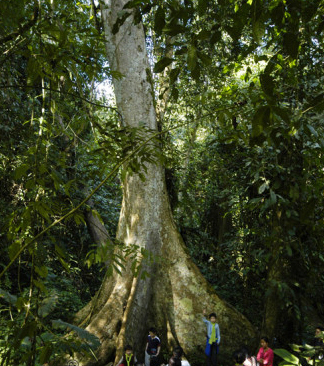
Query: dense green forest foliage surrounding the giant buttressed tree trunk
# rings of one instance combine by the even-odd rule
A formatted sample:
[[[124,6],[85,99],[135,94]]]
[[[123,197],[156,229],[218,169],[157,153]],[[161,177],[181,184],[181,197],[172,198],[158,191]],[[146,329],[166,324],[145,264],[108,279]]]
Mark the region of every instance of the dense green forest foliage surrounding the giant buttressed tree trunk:
[[[164,157],[154,159],[166,166],[188,250],[256,326],[271,322],[262,330],[300,342],[324,315],[323,4],[127,8],[147,30],[163,109]],[[85,213],[100,216],[114,237],[116,167],[137,153],[128,168],[138,171],[152,151],[139,148],[145,136],[122,128],[96,92],[122,77],[106,66],[99,6],[16,0],[1,10],[0,361],[39,365],[93,354],[97,339],[71,324],[106,269],[102,251],[93,255]],[[120,16],[116,31],[126,9]],[[122,259],[113,259],[120,270]]]

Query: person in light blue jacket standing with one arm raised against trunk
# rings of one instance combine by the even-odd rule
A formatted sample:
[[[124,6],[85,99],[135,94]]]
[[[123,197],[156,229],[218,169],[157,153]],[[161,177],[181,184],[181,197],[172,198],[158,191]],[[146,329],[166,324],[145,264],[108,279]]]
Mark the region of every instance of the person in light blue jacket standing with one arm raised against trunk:
[[[220,329],[216,323],[216,313],[209,314],[209,320],[205,318],[206,310],[203,311],[204,317],[203,322],[207,325],[207,341],[205,353],[207,355],[207,365],[217,365],[217,354],[220,343]]]

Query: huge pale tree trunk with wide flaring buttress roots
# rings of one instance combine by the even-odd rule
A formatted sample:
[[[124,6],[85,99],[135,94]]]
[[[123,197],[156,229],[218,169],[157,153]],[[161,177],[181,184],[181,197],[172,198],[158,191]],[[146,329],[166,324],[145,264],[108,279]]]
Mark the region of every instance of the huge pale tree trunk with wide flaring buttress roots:
[[[102,4],[109,63],[123,75],[114,80],[117,106],[127,126],[144,123],[156,130],[143,26],[134,25],[130,16],[116,34],[112,33],[125,3],[127,0],[104,0]],[[255,337],[249,321],[214,293],[190,259],[172,218],[163,167],[146,164],[146,168],[145,182],[137,174],[127,175],[123,182],[117,236],[125,245],[149,251],[154,260],[142,260],[141,274],[148,273],[144,279],[141,274],[134,277],[130,265],[121,275],[107,276],[97,296],[100,306],[93,304],[95,310],[88,306],[78,314],[78,321],[86,320],[87,330],[101,340],[98,361],[83,361],[83,365],[106,365],[113,357],[120,357],[126,344],[132,344],[138,358],[143,359],[151,326],[158,329],[164,351],[180,344],[189,358],[195,351],[203,357],[203,309],[218,315],[223,355]]]

